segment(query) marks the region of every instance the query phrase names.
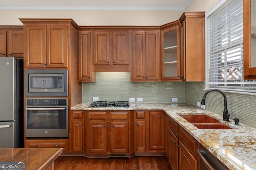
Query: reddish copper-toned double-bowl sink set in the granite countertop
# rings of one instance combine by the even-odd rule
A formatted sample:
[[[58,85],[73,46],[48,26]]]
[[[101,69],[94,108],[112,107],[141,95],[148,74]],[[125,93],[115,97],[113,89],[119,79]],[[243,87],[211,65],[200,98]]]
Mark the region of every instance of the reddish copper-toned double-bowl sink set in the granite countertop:
[[[180,115],[198,129],[232,129],[207,115]]]

